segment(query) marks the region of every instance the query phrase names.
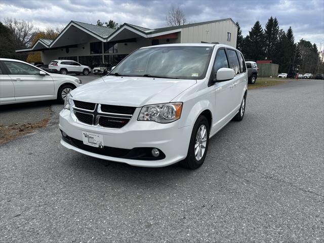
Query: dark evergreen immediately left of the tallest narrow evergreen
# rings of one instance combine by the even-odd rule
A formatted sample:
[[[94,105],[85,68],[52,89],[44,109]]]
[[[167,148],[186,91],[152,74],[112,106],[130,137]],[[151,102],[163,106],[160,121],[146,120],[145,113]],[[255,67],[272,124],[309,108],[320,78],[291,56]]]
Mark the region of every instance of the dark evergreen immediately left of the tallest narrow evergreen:
[[[245,38],[246,58],[251,60],[264,59],[264,32],[259,21],[257,21]]]

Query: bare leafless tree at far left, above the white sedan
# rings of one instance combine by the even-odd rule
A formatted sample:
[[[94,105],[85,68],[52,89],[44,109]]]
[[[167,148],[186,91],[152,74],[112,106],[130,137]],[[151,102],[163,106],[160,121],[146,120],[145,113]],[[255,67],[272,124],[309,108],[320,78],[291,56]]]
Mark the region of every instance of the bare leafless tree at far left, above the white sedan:
[[[4,23],[13,33],[15,46],[19,48],[30,46],[38,32],[32,23],[24,20],[5,18]]]

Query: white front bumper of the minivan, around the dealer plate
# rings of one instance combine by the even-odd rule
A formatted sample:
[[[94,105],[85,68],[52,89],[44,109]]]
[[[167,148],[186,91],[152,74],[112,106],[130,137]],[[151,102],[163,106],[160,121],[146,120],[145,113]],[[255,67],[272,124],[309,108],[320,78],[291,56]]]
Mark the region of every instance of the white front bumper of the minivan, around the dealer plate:
[[[192,128],[190,126],[179,128],[178,121],[169,124],[138,121],[139,110],[140,108],[137,108],[132,119],[123,128],[108,129],[77,123],[72,119],[70,110],[63,109],[60,112],[59,128],[65,137],[62,137],[61,144],[92,157],[132,166],[164,167],[184,159],[187,156]],[[88,149],[82,142],[82,132],[101,134],[104,142],[103,150]],[[152,148],[157,148],[161,156],[157,158],[148,156]]]

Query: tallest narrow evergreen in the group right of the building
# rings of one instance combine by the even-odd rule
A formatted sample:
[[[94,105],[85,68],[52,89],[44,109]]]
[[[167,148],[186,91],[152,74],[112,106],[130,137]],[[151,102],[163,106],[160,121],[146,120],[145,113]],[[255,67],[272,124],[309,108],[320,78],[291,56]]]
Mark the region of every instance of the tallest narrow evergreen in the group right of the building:
[[[272,16],[268,19],[265,25],[264,35],[265,35],[265,56],[268,60],[272,60],[275,54],[275,47],[279,41],[279,24],[276,18]]]

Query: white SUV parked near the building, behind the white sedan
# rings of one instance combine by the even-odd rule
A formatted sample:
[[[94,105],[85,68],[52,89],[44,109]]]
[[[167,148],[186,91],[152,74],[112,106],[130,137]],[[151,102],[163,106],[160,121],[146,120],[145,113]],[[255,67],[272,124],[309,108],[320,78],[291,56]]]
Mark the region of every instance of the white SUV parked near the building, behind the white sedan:
[[[91,68],[85,65],[81,65],[73,60],[54,60],[49,64],[49,72],[55,72],[60,74],[84,74],[88,75],[91,72]]]

